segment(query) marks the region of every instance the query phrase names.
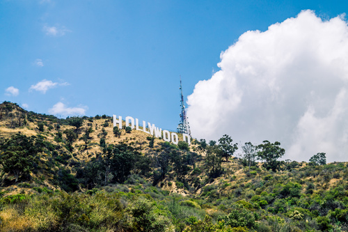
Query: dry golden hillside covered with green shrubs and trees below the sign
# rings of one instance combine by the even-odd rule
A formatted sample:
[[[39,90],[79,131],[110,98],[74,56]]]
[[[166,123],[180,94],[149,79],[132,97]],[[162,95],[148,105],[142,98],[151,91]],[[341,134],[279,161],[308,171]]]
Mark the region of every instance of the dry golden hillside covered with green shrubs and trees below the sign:
[[[60,119],[10,102],[0,148],[1,231],[348,229],[346,162],[248,162],[221,143],[118,137],[110,116]]]

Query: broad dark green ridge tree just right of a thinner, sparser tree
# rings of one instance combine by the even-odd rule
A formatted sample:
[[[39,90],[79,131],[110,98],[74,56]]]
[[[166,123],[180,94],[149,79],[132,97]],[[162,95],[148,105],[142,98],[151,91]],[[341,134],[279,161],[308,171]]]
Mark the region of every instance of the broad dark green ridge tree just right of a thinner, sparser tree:
[[[269,141],[262,141],[263,144],[257,146],[260,149],[258,151],[258,157],[260,160],[264,160],[264,166],[266,169],[272,169],[276,171],[280,167],[278,159],[285,154],[285,149],[280,148],[280,142],[276,141],[271,144]]]

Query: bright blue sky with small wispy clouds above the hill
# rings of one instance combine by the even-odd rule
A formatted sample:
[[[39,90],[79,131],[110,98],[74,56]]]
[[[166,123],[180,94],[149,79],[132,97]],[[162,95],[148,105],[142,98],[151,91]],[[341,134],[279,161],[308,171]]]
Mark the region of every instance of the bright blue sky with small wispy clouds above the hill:
[[[0,0],[0,101],[42,114],[61,102],[63,116],[117,114],[175,130],[180,75],[187,98],[244,32],[306,9],[326,19],[348,3]]]

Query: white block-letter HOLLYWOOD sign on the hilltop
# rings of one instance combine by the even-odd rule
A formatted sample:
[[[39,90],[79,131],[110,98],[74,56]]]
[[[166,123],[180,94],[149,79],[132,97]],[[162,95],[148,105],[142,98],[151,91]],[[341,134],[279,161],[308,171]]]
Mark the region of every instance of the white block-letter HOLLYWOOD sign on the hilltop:
[[[175,132],[169,132],[168,130],[163,130],[159,127],[156,127],[155,124],[151,124],[148,123],[148,125],[146,125],[146,122],[143,121],[143,129],[139,128],[139,119],[132,118],[131,116],[127,116],[125,118],[125,123],[126,123],[126,127],[131,127],[132,130],[140,130],[142,132],[151,134],[152,136],[155,137],[161,137],[163,138],[164,141],[168,141],[168,142],[172,142],[173,144],[178,144],[179,143],[179,137],[177,136],[177,133]],[[118,118],[116,117],[116,115],[113,115],[113,126],[116,127],[118,126],[118,128],[122,129],[122,117],[118,116]],[[189,136],[189,134],[182,134],[182,140],[186,141],[188,144],[191,144],[191,137]]]

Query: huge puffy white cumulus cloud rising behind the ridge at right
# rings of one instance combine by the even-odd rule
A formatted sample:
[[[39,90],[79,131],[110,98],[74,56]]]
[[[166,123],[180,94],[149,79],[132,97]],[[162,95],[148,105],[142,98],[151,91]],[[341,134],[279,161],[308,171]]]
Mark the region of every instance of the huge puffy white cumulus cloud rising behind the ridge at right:
[[[348,26],[305,10],[267,31],[247,31],[221,53],[220,70],[188,97],[193,136],[280,141],[284,158],[347,161]]]

